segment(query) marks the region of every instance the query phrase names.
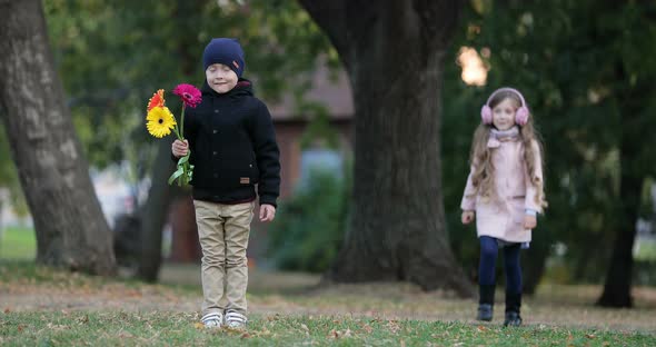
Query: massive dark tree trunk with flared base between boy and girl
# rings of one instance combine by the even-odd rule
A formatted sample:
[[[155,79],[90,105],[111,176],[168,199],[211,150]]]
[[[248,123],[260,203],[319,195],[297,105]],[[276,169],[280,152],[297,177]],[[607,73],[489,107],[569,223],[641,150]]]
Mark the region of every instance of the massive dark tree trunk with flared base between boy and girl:
[[[440,188],[441,69],[460,2],[300,2],[338,50],[356,109],[352,218],[328,278],[471,296]]]

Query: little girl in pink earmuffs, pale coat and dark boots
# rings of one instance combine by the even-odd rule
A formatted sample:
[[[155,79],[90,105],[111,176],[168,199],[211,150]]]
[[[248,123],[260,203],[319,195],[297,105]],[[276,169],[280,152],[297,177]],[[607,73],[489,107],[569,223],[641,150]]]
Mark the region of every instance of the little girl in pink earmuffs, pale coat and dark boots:
[[[471,171],[460,207],[463,224],[476,219],[480,241],[479,320],[491,320],[497,252],[503,248],[506,272],[504,326],[521,325],[519,249],[528,248],[536,216],[547,206],[541,172],[541,146],[528,107],[513,88],[493,92],[480,112],[471,142]]]

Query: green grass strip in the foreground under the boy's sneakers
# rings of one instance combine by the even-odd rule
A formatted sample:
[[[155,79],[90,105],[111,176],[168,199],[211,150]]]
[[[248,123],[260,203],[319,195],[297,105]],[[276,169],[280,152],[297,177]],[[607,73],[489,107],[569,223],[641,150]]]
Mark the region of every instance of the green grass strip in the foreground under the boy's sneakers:
[[[254,316],[248,331],[207,330],[181,313],[7,313],[0,344],[32,346],[654,346],[636,333],[348,316]]]

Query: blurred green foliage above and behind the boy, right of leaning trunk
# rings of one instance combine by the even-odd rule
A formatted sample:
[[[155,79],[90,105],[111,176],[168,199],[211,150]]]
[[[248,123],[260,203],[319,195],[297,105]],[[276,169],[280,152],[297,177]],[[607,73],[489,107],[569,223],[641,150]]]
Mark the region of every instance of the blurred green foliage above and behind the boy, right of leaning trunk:
[[[240,40],[245,77],[267,100],[285,92],[302,100],[317,57],[337,65],[327,38],[296,1],[47,0],[44,10],[89,161],[102,168],[131,160],[136,178],[149,171],[153,155],[143,126],[148,98],[180,82],[200,86],[202,50],[212,37]],[[168,101],[179,115],[170,93]]]

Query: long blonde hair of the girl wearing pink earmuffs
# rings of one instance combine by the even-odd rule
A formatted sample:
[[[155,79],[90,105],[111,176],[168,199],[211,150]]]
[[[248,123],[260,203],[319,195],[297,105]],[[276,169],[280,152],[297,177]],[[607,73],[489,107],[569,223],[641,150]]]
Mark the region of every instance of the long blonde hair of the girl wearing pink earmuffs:
[[[515,103],[516,109],[521,106],[521,101],[515,92],[499,91],[489,101],[489,107],[494,109],[497,105],[501,103],[506,99],[511,100]],[[529,115],[526,125],[517,125],[517,127],[519,128],[519,138],[524,145],[524,165],[526,165],[527,172],[530,172],[530,181],[526,184],[536,187],[537,194],[535,196],[535,204],[541,207],[547,207],[544,191],[545,182],[544,179],[540,179],[536,171],[537,158],[544,158],[543,145],[533,126],[533,117]],[[476,131],[474,132],[474,140],[471,141],[471,152],[469,156],[469,162],[474,168],[474,171],[471,172],[471,185],[475,188],[475,194],[479,194],[484,200],[497,198],[496,189],[494,188],[495,166],[491,160],[490,148],[487,147],[491,128],[493,125],[485,125],[483,122],[476,128]],[[537,146],[534,147],[534,143]],[[536,149],[540,155],[537,158],[535,153]]]

